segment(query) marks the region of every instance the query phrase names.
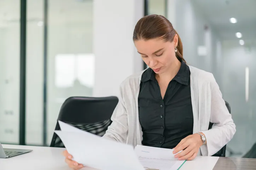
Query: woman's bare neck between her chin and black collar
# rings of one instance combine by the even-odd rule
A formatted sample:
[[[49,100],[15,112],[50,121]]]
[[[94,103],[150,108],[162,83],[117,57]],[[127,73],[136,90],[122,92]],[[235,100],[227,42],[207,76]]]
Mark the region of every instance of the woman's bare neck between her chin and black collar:
[[[180,70],[181,62],[178,59],[175,59],[175,62],[173,62],[169,69],[166,70],[162,74],[156,74],[157,81],[167,81],[168,83],[176,76],[178,71]]]

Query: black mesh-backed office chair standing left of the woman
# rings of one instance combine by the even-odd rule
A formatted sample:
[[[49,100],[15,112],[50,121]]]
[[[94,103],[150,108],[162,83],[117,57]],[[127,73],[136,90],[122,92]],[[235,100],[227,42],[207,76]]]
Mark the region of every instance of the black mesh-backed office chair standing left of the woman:
[[[110,97],[69,97],[60,108],[58,120],[81,130],[103,136],[111,124],[112,113],[118,98]],[[55,130],[60,130],[57,120]],[[56,133],[50,147],[65,147]]]

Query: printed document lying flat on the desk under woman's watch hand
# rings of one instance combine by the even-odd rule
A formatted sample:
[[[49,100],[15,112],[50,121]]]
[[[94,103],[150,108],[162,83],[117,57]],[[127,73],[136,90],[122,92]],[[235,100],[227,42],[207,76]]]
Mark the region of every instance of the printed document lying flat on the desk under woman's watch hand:
[[[178,170],[185,162],[174,158],[173,149],[137,145],[134,150],[140,163],[149,170]]]

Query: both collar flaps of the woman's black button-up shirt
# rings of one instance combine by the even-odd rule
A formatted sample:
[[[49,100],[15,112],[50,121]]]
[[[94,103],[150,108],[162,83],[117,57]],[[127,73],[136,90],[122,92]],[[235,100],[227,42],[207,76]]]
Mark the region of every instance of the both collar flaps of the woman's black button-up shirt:
[[[188,65],[184,61],[182,61],[180,69],[176,74],[176,76],[173,78],[173,80],[181,84],[188,85],[189,77],[190,77],[190,69]],[[146,69],[141,76],[141,82],[145,82],[149,80],[156,81],[155,72],[151,68]]]

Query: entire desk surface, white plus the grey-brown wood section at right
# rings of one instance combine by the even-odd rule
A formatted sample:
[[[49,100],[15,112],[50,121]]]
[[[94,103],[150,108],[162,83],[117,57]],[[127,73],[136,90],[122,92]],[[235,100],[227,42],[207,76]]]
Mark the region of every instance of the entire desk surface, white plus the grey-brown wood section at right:
[[[70,170],[64,162],[62,151],[64,148],[3,145],[4,148],[32,149],[30,153],[14,156],[11,158],[0,158],[1,170]],[[208,170],[207,164],[214,157],[197,157],[193,161],[187,161],[180,170]],[[198,166],[199,165],[199,166]],[[244,158],[219,158],[214,170],[252,170],[256,169],[256,159]],[[83,170],[89,170],[83,168]]]

